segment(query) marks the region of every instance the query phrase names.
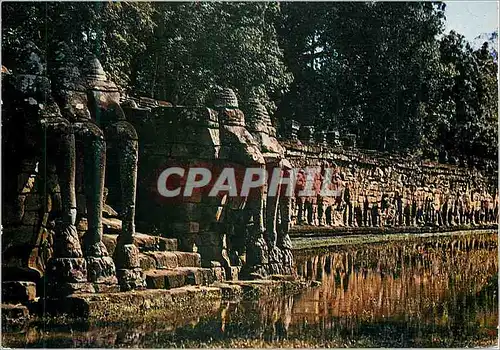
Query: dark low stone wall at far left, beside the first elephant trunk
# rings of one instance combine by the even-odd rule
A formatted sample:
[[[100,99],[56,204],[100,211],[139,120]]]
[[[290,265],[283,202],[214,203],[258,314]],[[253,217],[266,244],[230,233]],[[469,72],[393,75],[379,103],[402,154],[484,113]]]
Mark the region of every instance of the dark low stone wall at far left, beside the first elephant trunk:
[[[6,166],[6,164],[4,164]],[[41,172],[47,171],[47,182]],[[52,255],[54,225],[49,213],[60,203],[57,177],[51,169],[25,159],[16,172],[2,177],[2,266],[4,279],[38,280]]]

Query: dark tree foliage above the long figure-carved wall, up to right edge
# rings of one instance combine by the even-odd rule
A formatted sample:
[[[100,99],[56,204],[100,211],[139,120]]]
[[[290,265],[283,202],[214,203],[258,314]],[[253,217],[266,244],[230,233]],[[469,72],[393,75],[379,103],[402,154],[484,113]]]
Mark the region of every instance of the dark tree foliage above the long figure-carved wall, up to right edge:
[[[294,81],[278,117],[371,149],[496,159],[497,66],[487,47],[443,35],[444,3],[282,5]]]

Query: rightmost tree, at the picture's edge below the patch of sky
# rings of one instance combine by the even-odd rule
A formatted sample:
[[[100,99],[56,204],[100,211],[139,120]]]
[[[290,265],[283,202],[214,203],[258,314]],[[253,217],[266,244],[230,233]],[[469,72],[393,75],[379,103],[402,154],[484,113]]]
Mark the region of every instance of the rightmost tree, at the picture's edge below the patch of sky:
[[[455,108],[438,140],[456,156],[496,160],[497,64],[487,44],[473,51],[463,35],[452,31],[442,38],[440,52],[453,80],[442,102]]]

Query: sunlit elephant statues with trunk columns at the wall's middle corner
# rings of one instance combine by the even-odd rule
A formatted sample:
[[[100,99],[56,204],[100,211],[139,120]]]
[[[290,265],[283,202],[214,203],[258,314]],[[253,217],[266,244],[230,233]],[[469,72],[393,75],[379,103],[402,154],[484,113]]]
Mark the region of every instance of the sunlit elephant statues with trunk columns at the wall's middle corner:
[[[239,109],[233,90],[219,89],[215,101],[209,103],[218,114],[221,148],[218,158],[239,162],[239,166],[287,169],[285,148],[276,139],[276,129],[266,108],[257,98],[246,102],[246,115]],[[292,274],[292,242],[290,228],[291,198],[267,195],[266,186],[256,189],[245,203],[229,203],[226,207],[239,207],[235,215],[226,220],[228,260],[241,264],[245,256],[242,275],[265,276]],[[221,232],[222,234],[222,232]]]

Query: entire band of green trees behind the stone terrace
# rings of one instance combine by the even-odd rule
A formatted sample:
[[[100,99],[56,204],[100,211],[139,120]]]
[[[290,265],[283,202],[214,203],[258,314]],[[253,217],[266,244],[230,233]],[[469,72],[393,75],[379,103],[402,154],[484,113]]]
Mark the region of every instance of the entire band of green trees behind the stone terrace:
[[[135,95],[199,104],[229,86],[278,124],[494,166],[497,63],[443,35],[445,16],[443,2],[2,3],[2,58],[15,72],[32,41],[51,75],[58,55],[93,53]]]

